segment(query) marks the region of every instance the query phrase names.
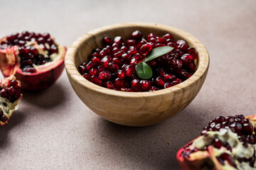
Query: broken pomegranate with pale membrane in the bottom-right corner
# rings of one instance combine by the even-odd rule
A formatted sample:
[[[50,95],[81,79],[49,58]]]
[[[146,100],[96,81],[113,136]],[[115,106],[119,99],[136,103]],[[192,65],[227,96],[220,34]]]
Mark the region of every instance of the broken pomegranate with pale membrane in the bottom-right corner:
[[[256,115],[218,116],[201,136],[178,150],[183,170],[256,169]]]

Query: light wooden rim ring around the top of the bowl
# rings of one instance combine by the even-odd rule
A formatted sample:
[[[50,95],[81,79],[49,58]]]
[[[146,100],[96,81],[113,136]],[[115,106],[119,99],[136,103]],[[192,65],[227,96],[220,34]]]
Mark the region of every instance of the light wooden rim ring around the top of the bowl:
[[[95,36],[99,33],[103,33],[107,30],[113,30],[116,28],[127,28],[127,27],[137,27],[137,26],[144,26],[149,28],[161,28],[166,30],[171,30],[171,32],[177,33],[179,37],[181,37],[186,42],[193,42],[195,44],[196,51],[198,52],[198,67],[196,72],[186,81],[181,82],[181,84],[177,84],[176,86],[171,86],[167,89],[161,89],[157,91],[143,91],[143,92],[127,92],[127,91],[115,91],[112,89],[107,89],[102,86],[98,86],[93,84],[91,81],[83,78],[82,75],[78,72],[78,68],[75,67],[75,55],[77,55],[78,49],[83,42],[87,39]],[[147,96],[159,96],[162,94],[173,94],[176,91],[180,91],[188,86],[192,86],[196,81],[203,77],[203,74],[208,72],[208,67],[210,64],[210,58],[208,55],[208,51],[206,47],[193,35],[187,33],[184,30],[180,30],[178,28],[174,28],[171,26],[166,26],[159,23],[116,23],[110,26],[104,26],[101,28],[97,28],[95,30],[91,30],[85,35],[80,36],[72,45],[68,48],[68,51],[65,55],[65,70],[67,74],[69,74],[70,79],[73,79],[76,83],[83,86],[85,89],[90,89],[100,94],[105,94],[108,96],[117,96],[117,97],[147,97]]]

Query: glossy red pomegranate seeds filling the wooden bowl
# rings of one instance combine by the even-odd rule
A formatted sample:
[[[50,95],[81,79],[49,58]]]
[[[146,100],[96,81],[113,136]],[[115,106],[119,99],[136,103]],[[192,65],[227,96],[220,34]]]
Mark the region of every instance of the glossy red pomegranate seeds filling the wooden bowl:
[[[156,91],[185,81],[195,72],[194,60],[198,58],[193,47],[184,40],[175,41],[170,34],[162,37],[150,33],[145,37],[136,30],[131,39],[124,40],[105,37],[102,49],[96,48],[88,62],[80,64],[78,71],[82,77],[99,86],[118,91]],[[156,47],[174,47],[166,55],[148,62],[153,76],[140,79],[136,66]]]

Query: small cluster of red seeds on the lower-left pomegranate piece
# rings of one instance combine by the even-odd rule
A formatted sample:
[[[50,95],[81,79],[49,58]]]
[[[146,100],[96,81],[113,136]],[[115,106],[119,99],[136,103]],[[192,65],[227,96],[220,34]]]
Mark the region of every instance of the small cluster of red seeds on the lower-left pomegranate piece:
[[[18,81],[13,79],[7,83],[7,86],[2,86],[0,96],[8,99],[11,103],[18,100],[21,96],[21,86],[18,86]]]

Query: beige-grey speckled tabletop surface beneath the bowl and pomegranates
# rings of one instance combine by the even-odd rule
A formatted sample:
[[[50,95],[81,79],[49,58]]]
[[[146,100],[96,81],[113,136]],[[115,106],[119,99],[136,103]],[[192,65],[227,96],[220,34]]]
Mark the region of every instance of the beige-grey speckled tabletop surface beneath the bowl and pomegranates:
[[[255,114],[253,0],[1,1],[0,13],[1,37],[48,31],[69,46],[101,26],[155,22],[186,30],[210,54],[198,96],[174,118],[150,127],[102,120],[75,95],[65,72],[46,91],[24,93],[9,125],[0,128],[0,169],[179,169],[177,149],[197,137],[208,120]]]

